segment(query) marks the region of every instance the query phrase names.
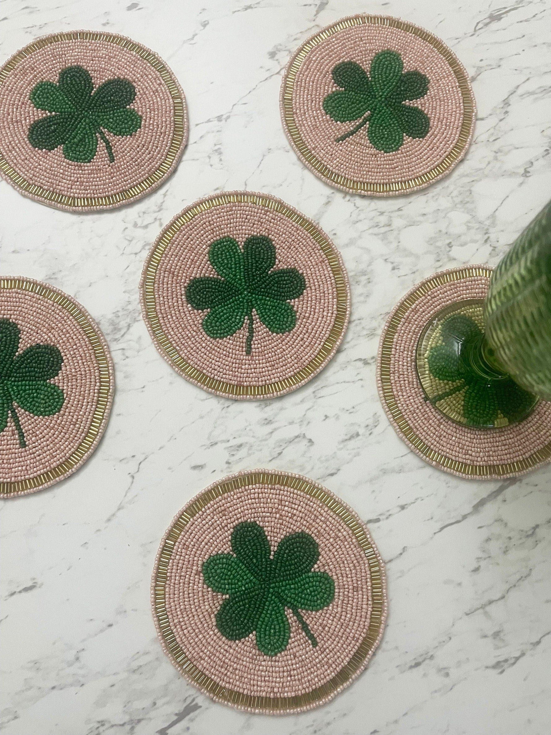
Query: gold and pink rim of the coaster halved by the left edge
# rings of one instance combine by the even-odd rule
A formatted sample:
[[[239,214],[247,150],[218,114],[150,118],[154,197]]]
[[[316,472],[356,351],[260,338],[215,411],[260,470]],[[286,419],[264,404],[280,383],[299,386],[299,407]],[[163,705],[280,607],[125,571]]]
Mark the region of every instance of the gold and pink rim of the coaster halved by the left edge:
[[[50,485],[59,482],[63,478],[71,475],[82,465],[96,448],[101,435],[107,426],[107,419],[111,410],[113,400],[113,391],[115,389],[113,379],[113,365],[109,348],[105,341],[104,335],[98,329],[98,326],[84,311],[82,306],[76,304],[66,293],[57,288],[48,286],[48,284],[24,278],[0,278],[0,290],[18,290],[35,293],[38,296],[47,298],[62,309],[66,309],[73,317],[79,327],[84,331],[90,345],[93,348],[94,356],[98,364],[99,388],[90,428],[86,436],[80,442],[75,451],[61,462],[60,465],[51,470],[41,473],[35,477],[29,477],[17,482],[0,481],[0,497],[14,498],[17,495],[29,495],[37,490],[43,490]]]

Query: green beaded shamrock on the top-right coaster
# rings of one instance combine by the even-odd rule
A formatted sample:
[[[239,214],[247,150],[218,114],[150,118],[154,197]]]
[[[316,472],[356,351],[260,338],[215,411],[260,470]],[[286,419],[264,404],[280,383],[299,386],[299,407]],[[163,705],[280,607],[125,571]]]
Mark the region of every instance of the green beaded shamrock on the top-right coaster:
[[[428,78],[419,71],[403,73],[403,61],[396,51],[381,51],[373,57],[370,75],[359,64],[345,61],[333,69],[333,80],[342,91],[332,92],[323,100],[323,109],[337,123],[361,121],[352,130],[336,138],[337,142],[355,135],[368,125],[367,137],[383,153],[397,151],[404,135],[423,138],[431,126],[419,107],[403,104],[424,97]]]

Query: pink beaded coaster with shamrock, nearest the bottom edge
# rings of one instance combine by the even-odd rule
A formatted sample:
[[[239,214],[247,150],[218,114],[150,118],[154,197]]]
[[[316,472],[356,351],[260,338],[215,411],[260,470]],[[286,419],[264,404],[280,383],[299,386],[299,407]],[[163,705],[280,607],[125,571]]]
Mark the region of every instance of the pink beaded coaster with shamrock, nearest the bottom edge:
[[[359,517],[300,475],[212,484],[170,524],[151,584],[162,648],[218,702],[288,714],[361,673],[386,620],[383,562]]]

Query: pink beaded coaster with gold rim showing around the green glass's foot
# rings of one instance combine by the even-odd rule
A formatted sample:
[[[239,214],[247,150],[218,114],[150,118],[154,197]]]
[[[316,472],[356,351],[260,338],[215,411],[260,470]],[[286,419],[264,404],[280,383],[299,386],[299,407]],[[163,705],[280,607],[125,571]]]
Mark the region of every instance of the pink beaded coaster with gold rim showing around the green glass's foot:
[[[417,345],[423,330],[444,307],[485,298],[490,274],[491,268],[471,265],[443,270],[418,284],[390,314],[378,353],[381,403],[400,439],[429,464],[465,478],[513,477],[551,458],[551,402],[540,401],[519,423],[478,429],[442,415],[419,381]]]

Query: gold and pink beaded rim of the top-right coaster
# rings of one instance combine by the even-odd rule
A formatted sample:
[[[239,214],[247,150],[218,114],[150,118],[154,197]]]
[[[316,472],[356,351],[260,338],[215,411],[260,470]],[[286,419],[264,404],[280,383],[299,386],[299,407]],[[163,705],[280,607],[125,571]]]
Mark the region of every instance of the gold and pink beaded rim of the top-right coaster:
[[[295,114],[292,108],[295,79],[311,49],[314,49],[315,46],[322,43],[325,39],[346,28],[368,24],[397,28],[430,43],[431,46],[433,46],[433,48],[436,49],[436,51],[438,51],[450,65],[461,91],[464,115],[463,122],[461,123],[461,131],[459,132],[455,145],[444,159],[434,166],[431,171],[427,171],[427,173],[423,173],[421,176],[415,176],[414,179],[406,179],[405,181],[398,182],[385,182],[381,184],[357,181],[356,179],[350,179],[348,176],[336,173],[336,171],[332,171],[328,165],[320,161],[320,159],[310,151],[308,146],[306,146],[306,143],[304,143],[300,136],[300,132],[295,121]],[[400,18],[392,18],[390,15],[350,15],[347,18],[341,18],[340,21],[337,21],[331,26],[326,26],[317,34],[309,37],[309,39],[300,46],[300,49],[295,52],[287,65],[283,82],[281,83],[280,107],[284,130],[289,138],[289,142],[294,148],[295,153],[303,160],[310,171],[337,189],[366,196],[397,196],[399,194],[406,194],[411,191],[423,189],[429,186],[432,182],[435,182],[437,179],[441,179],[442,176],[450,173],[451,169],[464,157],[475,129],[475,96],[472,92],[469,76],[467,75],[464,65],[461,64],[453,51],[431,32],[408,23],[407,21],[402,21]]]

